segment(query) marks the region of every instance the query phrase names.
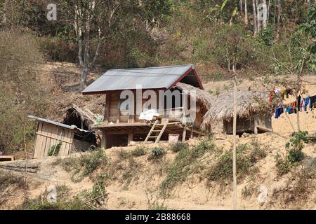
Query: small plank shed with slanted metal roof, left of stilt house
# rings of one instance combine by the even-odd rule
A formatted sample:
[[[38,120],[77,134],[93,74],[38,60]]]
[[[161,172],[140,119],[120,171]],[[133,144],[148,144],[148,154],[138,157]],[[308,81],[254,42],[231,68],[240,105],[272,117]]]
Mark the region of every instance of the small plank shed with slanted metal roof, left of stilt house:
[[[28,116],[38,122],[37,134],[34,144],[34,158],[43,158],[48,156],[48,151],[51,147],[58,144],[60,150],[59,156],[69,155],[73,145],[74,134],[77,132],[86,132],[80,130],[75,125],[64,125],[52,120]]]

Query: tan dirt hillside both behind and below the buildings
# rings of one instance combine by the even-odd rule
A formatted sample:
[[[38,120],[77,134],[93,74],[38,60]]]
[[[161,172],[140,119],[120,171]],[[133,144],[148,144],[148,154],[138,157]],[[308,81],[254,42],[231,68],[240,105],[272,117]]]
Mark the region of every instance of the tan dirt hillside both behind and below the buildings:
[[[56,111],[51,119],[57,118],[62,114],[62,110],[69,104],[75,104],[86,107],[94,113],[102,113],[104,108],[104,98],[100,96],[85,97],[79,92],[79,70],[76,68],[65,69],[64,64],[55,64],[46,66],[46,70],[51,69],[52,76],[41,76],[41,83],[46,83],[46,87],[51,89],[55,95]],[[56,70],[57,69],[57,70]],[[67,72],[62,73],[63,69]],[[54,73],[58,71],[58,73]],[[77,74],[76,74],[77,73]],[[91,76],[91,80],[97,78]],[[316,83],[316,77],[306,77],[311,83]],[[206,90],[211,92],[223,92],[230,86],[230,81],[218,81],[205,83]],[[308,85],[307,89],[310,95],[316,94],[316,85]],[[250,80],[242,80],[239,83],[239,89],[261,89]],[[294,99],[287,99],[289,102]],[[301,130],[307,130],[310,133],[316,132],[316,115],[314,111],[301,112]],[[265,151],[266,155],[256,161],[253,168],[256,168],[255,174],[246,174],[237,186],[238,209],[316,209],[316,147],[315,143],[309,143],[303,148],[305,158],[303,162],[291,172],[281,177],[277,176],[277,167],[275,156],[284,155],[285,144],[289,141],[291,133],[296,130],[296,116],[285,115],[278,119],[272,119],[272,128],[275,133],[265,133],[257,135],[244,135],[237,139],[237,145],[251,145],[253,142]],[[200,139],[187,141],[190,147],[199,145]],[[132,156],[137,146],[124,148],[111,148],[105,151],[107,160],[110,161],[104,167],[94,170],[88,176],[85,176],[79,182],[73,181],[74,170],[65,170],[62,161],[69,158],[80,158],[82,155],[90,153],[76,153],[67,158],[43,158],[29,160],[29,164],[38,164],[40,169],[37,174],[27,174],[28,188],[25,190],[19,187],[17,183],[9,186],[0,186],[4,188],[3,195],[0,196],[1,209],[15,209],[27,198],[40,197],[48,186],[65,185],[70,188],[70,198],[80,194],[83,190],[93,188],[93,180],[100,174],[108,174],[111,178],[106,179],[106,190],[108,195],[107,209],[155,209],[160,205],[168,209],[232,209],[232,185],[228,181],[224,185],[216,181],[209,181],[209,174],[217,161],[216,152],[228,152],[232,148],[232,137],[226,136],[220,132],[214,135],[213,147],[216,151],[206,151],[201,158],[195,159],[192,166],[183,181],[177,182],[174,188],[170,187],[169,195],[160,194],[161,186],[166,179],[170,177],[170,167],[179,153],[170,150],[169,144],[148,145],[145,147],[145,153],[140,156]],[[148,160],[152,153],[152,148],[164,148],[166,154],[159,160]],[[126,154],[125,154],[126,153]],[[126,155],[126,156],[125,156]],[[128,155],[128,156],[127,156]],[[308,179],[296,179],[296,170],[310,168],[314,176]],[[11,178],[25,178],[21,172],[8,172],[1,169],[2,174],[11,175]],[[172,177],[172,176],[171,176]],[[305,181],[305,182],[304,182]],[[261,191],[260,186],[265,186],[268,190],[268,200],[258,202],[258,196]],[[303,190],[301,189],[303,186]],[[246,191],[248,190],[248,191]],[[301,190],[301,191],[300,191]],[[247,192],[247,193],[245,193]]]

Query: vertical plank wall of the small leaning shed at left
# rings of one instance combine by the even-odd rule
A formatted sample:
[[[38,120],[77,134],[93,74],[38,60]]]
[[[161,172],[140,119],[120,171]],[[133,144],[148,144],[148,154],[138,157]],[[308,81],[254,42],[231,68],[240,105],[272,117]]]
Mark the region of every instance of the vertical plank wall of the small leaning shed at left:
[[[73,139],[74,132],[72,130],[39,122],[34,146],[34,158],[48,156],[49,148],[59,142],[62,142],[62,145],[60,146],[58,155],[69,155]]]

